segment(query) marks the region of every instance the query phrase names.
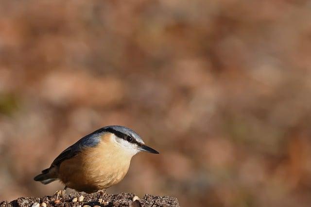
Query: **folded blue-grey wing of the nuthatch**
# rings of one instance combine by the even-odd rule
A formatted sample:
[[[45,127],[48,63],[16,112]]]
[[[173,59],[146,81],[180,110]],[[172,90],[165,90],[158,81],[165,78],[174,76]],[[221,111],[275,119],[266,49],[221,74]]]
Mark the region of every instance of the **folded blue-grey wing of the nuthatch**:
[[[100,140],[101,140],[102,133],[97,130],[92,132],[89,135],[86,135],[82,139],[80,139],[78,142],[72,144],[67,149],[65,149],[62,153],[60,153],[59,156],[57,156],[56,159],[51,164],[52,166],[59,165],[62,161],[65,159],[73,158],[74,156],[78,155],[83,149],[87,147],[94,147],[96,146]]]

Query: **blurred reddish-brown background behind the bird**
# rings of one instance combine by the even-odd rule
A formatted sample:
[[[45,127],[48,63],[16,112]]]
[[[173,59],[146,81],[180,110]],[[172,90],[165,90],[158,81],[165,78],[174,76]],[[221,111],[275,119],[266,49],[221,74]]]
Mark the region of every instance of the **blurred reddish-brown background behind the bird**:
[[[140,153],[110,193],[311,206],[311,1],[1,0],[0,200],[106,125]]]

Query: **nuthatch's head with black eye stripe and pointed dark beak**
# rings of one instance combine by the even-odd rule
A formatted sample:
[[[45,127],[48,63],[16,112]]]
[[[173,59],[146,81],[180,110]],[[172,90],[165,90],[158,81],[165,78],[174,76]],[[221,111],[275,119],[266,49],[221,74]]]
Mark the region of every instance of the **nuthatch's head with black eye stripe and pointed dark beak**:
[[[123,126],[107,126],[103,127],[102,131],[104,131],[104,133],[110,133],[110,140],[132,155],[140,151],[159,154],[153,148],[145,145],[140,136],[130,128]]]

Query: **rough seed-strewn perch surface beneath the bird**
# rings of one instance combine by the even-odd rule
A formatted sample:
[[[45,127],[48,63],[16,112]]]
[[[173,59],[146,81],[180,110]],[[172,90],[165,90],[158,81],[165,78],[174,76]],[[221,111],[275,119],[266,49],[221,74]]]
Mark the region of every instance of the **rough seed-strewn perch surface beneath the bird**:
[[[72,199],[83,196],[84,199],[81,202],[72,202]],[[52,207],[73,207],[73,206],[108,206],[108,207],[130,207],[133,206],[134,193],[120,194],[108,194],[108,193],[92,193],[87,194],[84,192],[72,192],[70,194],[65,194],[58,198],[59,202],[55,203],[57,200],[56,195],[44,196],[42,198],[17,198],[14,201],[0,202],[0,207],[29,207],[33,206],[35,203],[46,203],[47,206]],[[107,205],[103,205],[103,203]],[[155,196],[146,194],[143,198],[139,199],[142,207],[179,207],[177,198],[171,196]]]

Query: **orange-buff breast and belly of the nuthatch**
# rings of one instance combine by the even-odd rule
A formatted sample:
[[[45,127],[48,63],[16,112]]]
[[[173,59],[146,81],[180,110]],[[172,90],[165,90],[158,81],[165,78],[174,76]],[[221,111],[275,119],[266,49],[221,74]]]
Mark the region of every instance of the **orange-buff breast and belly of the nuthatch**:
[[[96,147],[90,147],[76,157],[60,164],[59,179],[77,191],[94,192],[119,183],[126,175],[132,156],[103,137]]]

